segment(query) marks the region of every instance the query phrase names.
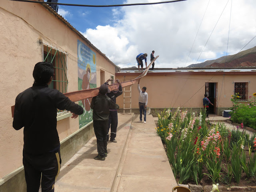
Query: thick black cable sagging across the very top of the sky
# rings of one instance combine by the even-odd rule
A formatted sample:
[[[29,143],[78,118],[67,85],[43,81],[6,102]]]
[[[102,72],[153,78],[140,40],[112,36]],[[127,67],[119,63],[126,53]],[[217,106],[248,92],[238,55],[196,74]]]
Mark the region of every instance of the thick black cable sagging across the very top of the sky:
[[[180,2],[180,1],[186,1],[186,0],[173,0],[173,1],[164,1],[164,2],[155,2],[155,3],[118,4],[118,5],[82,5],[82,4],[53,3],[53,2],[42,2],[42,1],[32,1],[32,0],[10,0],[10,1],[30,2],[30,3],[39,3],[39,4],[66,5],[66,6],[80,6],[80,7],[122,7],[122,6],[135,6],[135,5],[155,5],[155,4]]]

